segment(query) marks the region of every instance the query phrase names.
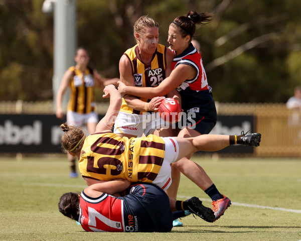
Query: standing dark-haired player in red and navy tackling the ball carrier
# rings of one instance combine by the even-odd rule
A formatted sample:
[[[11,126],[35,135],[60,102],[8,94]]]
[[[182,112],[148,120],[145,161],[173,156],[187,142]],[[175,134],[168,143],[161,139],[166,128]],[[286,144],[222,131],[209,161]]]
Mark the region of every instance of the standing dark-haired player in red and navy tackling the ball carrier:
[[[213,14],[189,11],[186,16],[177,17],[170,24],[168,42],[175,54],[172,64],[173,70],[170,76],[163,80],[157,88],[136,88],[118,82],[118,90],[121,95],[146,95],[148,98],[164,96],[172,89],[177,88],[181,94],[182,108],[187,113],[185,120],[187,126],[182,123],[184,128],[179,132],[178,137],[197,137],[208,134],[217,121],[212,89],[208,85],[201,53],[191,44],[196,31],[196,24],[207,24],[211,21],[212,16]],[[184,122],[184,120],[182,121]],[[199,168],[194,162],[189,162],[191,156],[188,155],[172,164],[173,184],[167,191],[170,197],[175,198],[177,196],[180,171],[192,180],[193,177],[187,167]],[[213,210],[216,219],[218,219],[230,206],[231,201],[217,190],[202,168],[199,170],[202,175],[196,180],[197,185],[212,199]]]

